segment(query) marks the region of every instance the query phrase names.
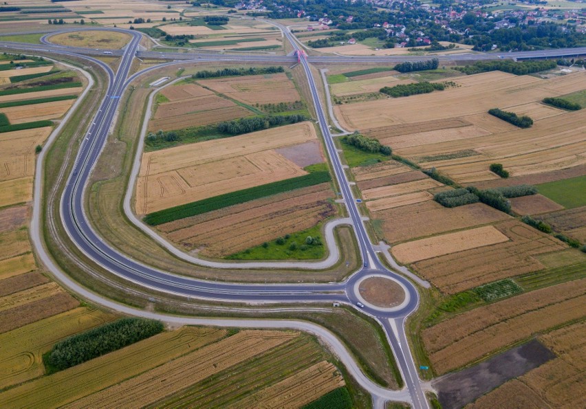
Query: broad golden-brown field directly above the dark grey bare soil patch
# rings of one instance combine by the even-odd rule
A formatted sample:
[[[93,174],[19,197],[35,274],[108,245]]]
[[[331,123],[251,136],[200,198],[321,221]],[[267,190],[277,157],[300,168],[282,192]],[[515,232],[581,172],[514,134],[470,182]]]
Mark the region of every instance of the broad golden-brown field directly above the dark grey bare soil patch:
[[[422,333],[437,373],[446,373],[535,333],[583,318],[586,279],[478,307]]]

